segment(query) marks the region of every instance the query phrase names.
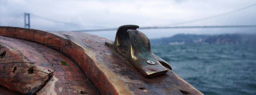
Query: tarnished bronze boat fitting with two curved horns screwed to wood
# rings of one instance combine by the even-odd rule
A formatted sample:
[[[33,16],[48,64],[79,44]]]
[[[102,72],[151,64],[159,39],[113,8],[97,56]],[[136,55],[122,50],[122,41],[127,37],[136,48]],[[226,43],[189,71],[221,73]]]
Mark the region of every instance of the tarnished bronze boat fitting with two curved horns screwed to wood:
[[[117,29],[114,42],[105,42],[147,78],[165,74],[172,67],[153,54],[147,36],[136,30],[138,25],[123,25]]]

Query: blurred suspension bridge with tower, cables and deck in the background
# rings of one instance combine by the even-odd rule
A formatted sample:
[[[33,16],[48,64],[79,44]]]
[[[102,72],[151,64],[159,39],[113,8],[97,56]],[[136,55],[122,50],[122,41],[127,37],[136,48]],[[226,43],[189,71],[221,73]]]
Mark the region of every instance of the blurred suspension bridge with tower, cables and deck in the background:
[[[222,16],[226,16],[226,15],[230,15],[232,13],[236,13],[236,12],[241,12],[243,10],[255,7],[256,4],[252,4],[243,8],[239,8],[239,9],[235,9],[233,11],[229,11],[229,12],[225,12],[225,13],[220,13],[218,15],[212,15],[212,16],[208,16],[208,17],[204,17],[204,18],[199,18],[199,19],[193,19],[193,20],[188,20],[188,21],[182,21],[179,23],[172,23],[169,24],[167,26],[159,26],[159,27],[154,27],[154,26],[150,26],[150,27],[140,27],[139,29],[177,29],[177,28],[243,28],[243,27],[256,27],[255,25],[182,25],[182,26],[177,26],[177,25],[181,25],[181,24],[188,24],[188,23],[195,23],[195,22],[199,22],[199,21],[204,21],[204,20],[209,20],[209,19],[214,19],[214,18],[218,18],[218,17],[222,17]],[[69,22],[65,22],[65,21],[58,21],[58,20],[54,20],[54,19],[49,19],[46,17],[42,17],[42,16],[38,16],[32,13],[25,13],[24,14],[24,25],[25,28],[28,27],[30,28],[30,15],[33,17],[37,17],[39,19],[42,20],[47,20],[47,21],[52,21],[54,23],[61,23],[61,24],[65,24],[65,25],[75,25],[75,26],[82,26],[82,27],[94,27],[97,29],[80,29],[80,30],[72,30],[73,32],[95,32],[95,31],[112,31],[112,30],[116,30],[117,28],[109,28],[109,27],[103,27],[103,26],[95,26],[95,25],[81,25],[81,24],[75,24],[75,23],[69,23]],[[10,23],[8,23],[8,25],[12,26],[15,23],[17,23],[18,21],[20,21],[22,19],[23,15],[20,15],[19,17],[17,17],[16,19],[14,19],[13,21],[11,21]]]

